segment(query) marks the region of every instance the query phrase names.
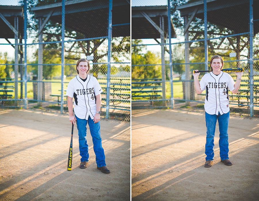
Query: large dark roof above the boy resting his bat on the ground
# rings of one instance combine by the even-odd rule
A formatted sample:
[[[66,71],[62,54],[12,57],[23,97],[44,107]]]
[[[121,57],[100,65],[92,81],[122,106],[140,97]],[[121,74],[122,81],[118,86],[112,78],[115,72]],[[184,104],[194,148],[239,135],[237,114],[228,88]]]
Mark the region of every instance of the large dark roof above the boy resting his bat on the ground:
[[[85,35],[86,38],[106,37],[108,34],[107,0],[71,0],[65,2],[65,26]],[[31,8],[35,18],[46,18],[53,10],[49,20],[62,24],[62,3],[53,3]],[[99,20],[101,19],[101,20]],[[130,36],[130,2],[113,0],[112,37]],[[116,24],[127,24],[114,26]]]

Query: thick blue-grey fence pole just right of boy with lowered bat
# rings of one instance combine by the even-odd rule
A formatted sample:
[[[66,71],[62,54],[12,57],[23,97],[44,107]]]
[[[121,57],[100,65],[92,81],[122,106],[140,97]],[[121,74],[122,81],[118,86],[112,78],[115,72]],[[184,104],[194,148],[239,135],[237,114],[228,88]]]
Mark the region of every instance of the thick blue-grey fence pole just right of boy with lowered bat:
[[[107,63],[107,86],[106,86],[106,116],[109,118],[109,103],[110,103],[110,85],[111,85],[111,36],[112,36],[112,8],[113,0],[109,1],[109,18],[108,18],[108,63]]]

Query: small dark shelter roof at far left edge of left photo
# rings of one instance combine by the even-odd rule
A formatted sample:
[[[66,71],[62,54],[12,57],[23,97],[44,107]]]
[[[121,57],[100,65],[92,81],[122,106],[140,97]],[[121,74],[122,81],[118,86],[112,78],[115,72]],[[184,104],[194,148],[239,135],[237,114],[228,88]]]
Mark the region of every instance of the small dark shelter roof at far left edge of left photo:
[[[14,17],[18,17],[18,32],[23,36],[23,7],[0,5],[0,14],[14,27]],[[13,30],[0,18],[0,38],[14,39]]]

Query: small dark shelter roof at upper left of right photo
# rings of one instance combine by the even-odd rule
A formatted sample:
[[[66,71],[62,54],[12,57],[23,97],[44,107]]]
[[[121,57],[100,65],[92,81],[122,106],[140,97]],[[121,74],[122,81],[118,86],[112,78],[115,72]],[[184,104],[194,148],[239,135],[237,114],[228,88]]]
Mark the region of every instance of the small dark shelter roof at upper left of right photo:
[[[167,6],[134,6],[132,10],[132,39],[160,39],[158,30],[141,14],[144,12],[160,27],[160,16],[164,17],[164,32],[168,30]],[[171,18],[170,18],[171,19]],[[171,20],[171,38],[176,38]]]

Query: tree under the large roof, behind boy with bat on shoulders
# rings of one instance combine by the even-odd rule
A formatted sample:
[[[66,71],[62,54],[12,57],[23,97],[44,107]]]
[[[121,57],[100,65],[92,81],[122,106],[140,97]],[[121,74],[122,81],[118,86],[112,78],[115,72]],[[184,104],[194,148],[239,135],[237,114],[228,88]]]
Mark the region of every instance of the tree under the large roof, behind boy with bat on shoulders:
[[[193,3],[198,0],[171,0],[171,15],[174,22],[174,26],[184,31],[184,18],[180,17],[180,11],[176,10],[176,6],[186,3]],[[190,16],[188,16],[188,20]],[[214,38],[224,35],[236,34],[235,30],[207,23],[208,38]],[[204,39],[204,20],[200,18],[194,18],[189,27],[190,40]],[[244,49],[248,49],[249,38],[247,36],[228,37],[223,39],[208,40],[208,55],[220,55],[222,57],[228,57],[230,52],[236,52],[236,58],[233,60],[240,60],[240,57],[248,59],[248,55],[242,54]],[[194,59],[192,62],[204,62],[204,41],[189,43],[190,56]],[[229,59],[228,59],[229,60]],[[240,67],[240,62],[236,62],[236,67]]]

